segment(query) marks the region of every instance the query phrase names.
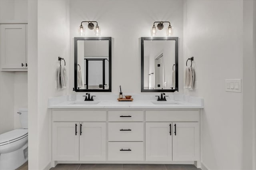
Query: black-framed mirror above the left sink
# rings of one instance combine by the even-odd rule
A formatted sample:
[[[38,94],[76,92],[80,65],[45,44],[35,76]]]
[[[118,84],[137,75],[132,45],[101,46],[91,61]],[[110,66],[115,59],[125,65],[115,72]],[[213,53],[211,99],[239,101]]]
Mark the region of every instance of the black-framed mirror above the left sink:
[[[111,92],[111,37],[74,38],[74,91]]]

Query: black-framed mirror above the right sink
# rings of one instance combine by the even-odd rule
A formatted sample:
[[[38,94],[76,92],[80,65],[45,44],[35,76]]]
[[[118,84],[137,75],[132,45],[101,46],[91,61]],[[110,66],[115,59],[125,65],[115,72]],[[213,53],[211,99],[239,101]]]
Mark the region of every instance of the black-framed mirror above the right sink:
[[[178,91],[178,37],[141,37],[141,92]]]

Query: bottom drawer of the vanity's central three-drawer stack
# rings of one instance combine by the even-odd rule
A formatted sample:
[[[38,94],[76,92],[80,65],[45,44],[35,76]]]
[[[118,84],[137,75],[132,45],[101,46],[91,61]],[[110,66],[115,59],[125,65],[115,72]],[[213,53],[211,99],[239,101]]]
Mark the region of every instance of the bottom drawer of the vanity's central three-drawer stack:
[[[144,160],[143,152],[143,142],[108,142],[108,160]]]

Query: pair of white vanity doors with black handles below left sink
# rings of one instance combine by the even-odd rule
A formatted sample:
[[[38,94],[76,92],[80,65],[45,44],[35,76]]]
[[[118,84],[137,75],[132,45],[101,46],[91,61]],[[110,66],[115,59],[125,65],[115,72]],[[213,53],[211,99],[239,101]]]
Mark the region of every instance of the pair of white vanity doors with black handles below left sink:
[[[106,123],[54,122],[53,160],[106,160]]]

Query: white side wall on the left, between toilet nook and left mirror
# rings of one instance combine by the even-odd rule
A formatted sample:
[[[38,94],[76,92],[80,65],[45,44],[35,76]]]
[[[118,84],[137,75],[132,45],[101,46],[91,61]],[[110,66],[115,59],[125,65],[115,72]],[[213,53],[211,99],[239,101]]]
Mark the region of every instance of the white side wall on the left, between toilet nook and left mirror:
[[[33,65],[28,70],[29,91],[29,169],[44,169],[51,160],[50,145],[50,109],[48,98],[68,94],[68,89],[55,89],[58,56],[66,61],[69,70],[69,2],[56,0],[29,1],[29,22],[33,28],[29,38],[28,62]],[[33,16],[34,15],[34,16]],[[31,17],[31,18],[30,18]],[[64,62],[62,61],[62,64]],[[33,119],[30,119],[32,118]]]

